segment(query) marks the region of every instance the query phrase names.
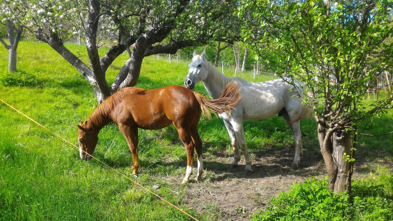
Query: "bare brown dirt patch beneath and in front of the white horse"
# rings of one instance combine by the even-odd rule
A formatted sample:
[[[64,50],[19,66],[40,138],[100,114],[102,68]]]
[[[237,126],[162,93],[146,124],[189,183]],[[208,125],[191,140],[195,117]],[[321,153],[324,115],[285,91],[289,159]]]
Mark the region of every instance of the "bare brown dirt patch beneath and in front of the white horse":
[[[323,160],[318,151],[307,151],[299,163],[299,170],[293,171],[293,148],[278,148],[254,153],[252,175],[244,175],[244,165],[229,169],[232,155],[217,153],[214,158],[204,160],[206,174],[201,182],[187,186],[184,200],[189,208],[200,214],[211,214],[211,219],[242,221],[250,220],[253,213],[263,210],[271,197],[277,197],[290,188],[292,183],[303,182],[308,177],[326,176]],[[244,161],[242,161],[244,163]],[[367,174],[364,168],[375,167],[375,162],[360,158],[354,177]],[[363,168],[363,169],[362,169]]]

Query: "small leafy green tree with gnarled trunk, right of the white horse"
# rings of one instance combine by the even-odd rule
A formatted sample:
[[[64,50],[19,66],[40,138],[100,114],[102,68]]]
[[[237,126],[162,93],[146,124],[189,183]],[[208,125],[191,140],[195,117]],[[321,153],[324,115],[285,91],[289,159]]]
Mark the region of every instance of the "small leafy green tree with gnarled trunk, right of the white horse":
[[[392,7],[391,0],[244,0],[239,7],[240,17],[253,11],[252,20],[243,17],[242,34],[258,57],[288,83],[304,82],[304,94],[317,95],[302,97],[316,113],[329,189],[336,193],[351,190],[356,126],[392,108],[391,93],[364,103],[367,82],[393,64]]]

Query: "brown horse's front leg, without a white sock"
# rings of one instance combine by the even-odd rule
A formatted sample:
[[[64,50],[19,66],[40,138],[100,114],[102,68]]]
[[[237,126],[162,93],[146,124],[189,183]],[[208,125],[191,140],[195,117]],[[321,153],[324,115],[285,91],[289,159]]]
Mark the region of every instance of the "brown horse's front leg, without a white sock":
[[[138,128],[133,128],[124,124],[119,124],[119,130],[123,134],[124,138],[127,140],[127,144],[130,147],[132,154],[133,164],[132,171],[133,175],[138,173],[139,168],[139,157],[138,157]]]

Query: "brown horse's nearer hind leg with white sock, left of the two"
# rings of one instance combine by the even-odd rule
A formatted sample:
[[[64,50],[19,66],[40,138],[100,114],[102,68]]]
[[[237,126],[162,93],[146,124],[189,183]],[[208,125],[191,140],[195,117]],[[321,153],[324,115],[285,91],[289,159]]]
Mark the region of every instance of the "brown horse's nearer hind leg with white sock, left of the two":
[[[180,140],[182,140],[185,150],[187,151],[187,169],[185,171],[185,177],[182,183],[187,183],[190,180],[190,176],[193,173],[193,161],[194,161],[194,142],[191,138],[191,131],[186,125],[179,122],[173,122],[174,126],[179,133]]]

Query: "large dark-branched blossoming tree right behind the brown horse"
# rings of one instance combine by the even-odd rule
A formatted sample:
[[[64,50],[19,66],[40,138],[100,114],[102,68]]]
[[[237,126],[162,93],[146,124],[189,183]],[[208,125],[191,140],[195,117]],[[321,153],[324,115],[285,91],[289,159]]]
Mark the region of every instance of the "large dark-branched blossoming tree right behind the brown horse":
[[[25,1],[13,2],[22,6]],[[206,44],[212,39],[225,41],[227,32],[218,32],[224,24],[220,21],[233,17],[235,9],[233,2],[225,0],[28,0],[26,4],[27,16],[18,22],[90,82],[98,103],[120,88],[137,83],[143,57],[176,53],[179,48]],[[98,48],[113,35],[117,44],[100,57]],[[90,66],[64,45],[72,37],[86,42]],[[109,86],[105,78],[108,67],[130,46],[130,58]]]

